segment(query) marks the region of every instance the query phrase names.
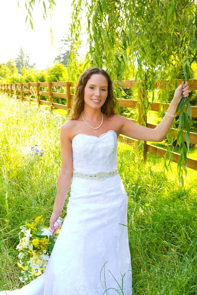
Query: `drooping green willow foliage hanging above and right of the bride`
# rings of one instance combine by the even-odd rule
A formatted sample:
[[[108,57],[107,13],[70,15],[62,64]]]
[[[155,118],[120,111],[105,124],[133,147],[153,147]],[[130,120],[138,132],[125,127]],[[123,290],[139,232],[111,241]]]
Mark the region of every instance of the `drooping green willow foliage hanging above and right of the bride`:
[[[112,80],[121,81],[131,69],[135,72],[138,104],[143,107],[142,117],[149,110],[148,93],[155,100],[154,84],[156,80],[168,80],[164,85],[164,102],[167,100],[168,85],[173,90],[178,85],[173,80],[184,81],[194,77],[192,63],[197,58],[197,8],[195,1],[183,0],[73,0],[70,38],[74,40],[69,55],[70,80],[77,80],[76,52],[80,44],[80,32],[86,26],[89,51],[85,67],[98,66],[106,69]],[[84,24],[84,11],[86,23]],[[145,99],[141,102],[140,91]],[[115,90],[116,97],[121,95]],[[163,101],[161,101],[163,102]],[[184,113],[184,106],[187,113]],[[187,130],[190,105],[186,100],[181,108],[180,131]],[[145,125],[145,122],[143,122]],[[189,133],[189,132],[188,132]],[[169,143],[173,142],[168,136]],[[179,139],[183,142],[183,132]],[[186,149],[187,150],[187,149]],[[184,155],[178,163],[182,175],[185,170]],[[171,158],[169,157],[168,160]],[[167,166],[166,166],[167,167]]]

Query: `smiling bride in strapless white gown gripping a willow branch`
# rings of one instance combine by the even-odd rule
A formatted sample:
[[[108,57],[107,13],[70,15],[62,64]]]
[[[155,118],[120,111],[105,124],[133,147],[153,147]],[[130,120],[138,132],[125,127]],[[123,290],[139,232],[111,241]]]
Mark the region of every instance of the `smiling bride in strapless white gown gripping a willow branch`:
[[[53,233],[71,183],[65,221],[45,272],[20,290],[0,294],[132,294],[127,195],[117,169],[117,139],[123,134],[163,141],[182,95],[189,95],[184,82],[160,124],[151,129],[116,114],[106,71],[92,67],[80,76],[69,120],[61,128],[62,167],[50,218]]]

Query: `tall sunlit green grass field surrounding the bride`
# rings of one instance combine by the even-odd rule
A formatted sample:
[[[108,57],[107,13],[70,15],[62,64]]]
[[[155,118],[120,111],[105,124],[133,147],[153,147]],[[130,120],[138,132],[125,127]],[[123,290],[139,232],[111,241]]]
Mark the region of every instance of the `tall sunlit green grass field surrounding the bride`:
[[[60,113],[0,96],[0,290],[23,286],[19,227],[40,214],[49,224],[66,120]],[[133,295],[196,295],[197,172],[188,169],[180,187],[176,164],[168,172],[163,167],[162,158],[148,154],[144,163],[132,147],[118,143],[118,169],[128,195]],[[65,208],[69,195],[70,190]]]

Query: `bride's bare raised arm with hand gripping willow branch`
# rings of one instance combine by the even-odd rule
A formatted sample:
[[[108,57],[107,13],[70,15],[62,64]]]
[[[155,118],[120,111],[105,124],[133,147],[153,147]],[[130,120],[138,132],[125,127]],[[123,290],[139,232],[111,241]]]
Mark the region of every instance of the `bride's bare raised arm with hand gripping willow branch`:
[[[182,86],[183,85],[179,85],[179,87],[175,90],[174,98],[172,99],[167,110],[168,114],[170,115],[176,114],[176,109],[182,97],[182,94],[184,95],[184,97],[187,97],[189,95],[189,90],[188,90],[189,86],[187,86],[187,82],[185,83],[184,85],[185,88],[183,90],[182,90]],[[125,118],[122,116],[120,117],[122,121],[122,128],[120,131],[121,134],[129,136],[137,140],[153,141],[153,142],[162,142],[164,140],[174,119],[165,115],[162,121],[159,123],[159,125],[155,129],[152,129],[152,128],[135,124],[128,118]]]

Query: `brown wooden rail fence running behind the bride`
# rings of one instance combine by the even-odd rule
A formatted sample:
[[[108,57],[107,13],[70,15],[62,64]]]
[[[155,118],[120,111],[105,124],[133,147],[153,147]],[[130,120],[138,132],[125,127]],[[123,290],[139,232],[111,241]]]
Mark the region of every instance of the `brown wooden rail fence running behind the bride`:
[[[181,80],[178,80],[178,85],[181,84]],[[197,80],[188,81],[188,84],[190,85],[190,90],[197,90]],[[40,83],[15,83],[15,84],[0,84],[0,92],[1,93],[7,93],[8,95],[12,96],[15,95],[16,98],[19,98],[21,100],[29,100],[34,101],[38,104],[45,104],[49,105],[51,107],[51,110],[53,108],[59,108],[63,110],[67,110],[69,112],[70,106],[71,106],[71,99],[73,98],[73,94],[71,94],[71,87],[73,87],[74,84],[72,82],[40,82]],[[122,88],[133,88],[135,86],[134,80],[124,80],[122,81]],[[48,91],[41,91],[40,88],[47,87]],[[53,92],[53,87],[66,87],[66,92],[60,93],[60,92]],[[162,89],[164,88],[164,81],[157,81],[157,83],[154,85],[155,89]],[[57,90],[57,89],[56,89]],[[20,95],[19,95],[20,93]],[[24,94],[27,94],[24,95]],[[144,99],[143,90],[140,89],[140,99]],[[32,96],[35,96],[33,98]],[[49,96],[49,101],[41,100],[40,95]],[[66,99],[66,105],[54,103],[53,97],[60,97]],[[136,108],[137,106],[137,100],[133,99],[117,99],[119,101],[119,104],[121,107],[128,107],[128,108]],[[165,110],[167,109],[169,104],[163,103],[162,108]],[[150,103],[150,107],[152,111],[160,111],[160,103]],[[143,118],[141,116],[142,111],[140,104],[138,104],[138,124],[141,124],[142,119],[147,122],[147,115],[145,115]],[[197,106],[192,106],[192,117],[197,118]],[[133,119],[131,119],[134,121]],[[155,128],[156,124],[150,124],[146,123],[146,126],[149,128]],[[173,130],[172,130],[173,131]],[[175,138],[174,132],[172,132],[172,136]],[[137,142],[134,139],[131,139],[127,136],[120,135],[119,140],[121,142],[125,142],[128,144],[133,144],[134,142]],[[191,144],[197,144],[197,133],[190,132],[190,142]],[[164,154],[166,152],[166,149],[156,147],[151,144],[147,144],[147,142],[144,142],[144,159],[146,159],[147,152],[152,153],[154,155],[164,157]],[[173,152],[173,161],[178,162],[179,154],[176,152]],[[187,167],[197,170],[197,160],[188,157],[187,158]]]

